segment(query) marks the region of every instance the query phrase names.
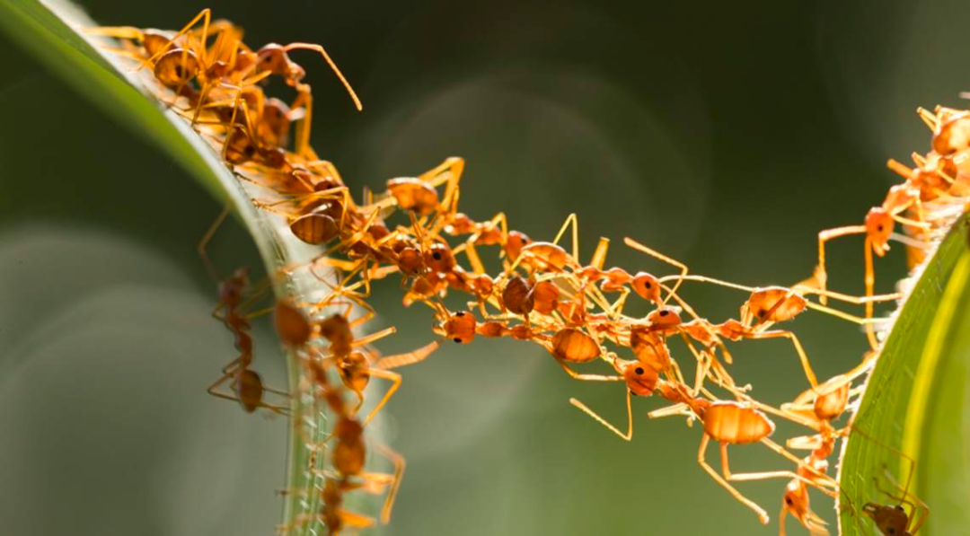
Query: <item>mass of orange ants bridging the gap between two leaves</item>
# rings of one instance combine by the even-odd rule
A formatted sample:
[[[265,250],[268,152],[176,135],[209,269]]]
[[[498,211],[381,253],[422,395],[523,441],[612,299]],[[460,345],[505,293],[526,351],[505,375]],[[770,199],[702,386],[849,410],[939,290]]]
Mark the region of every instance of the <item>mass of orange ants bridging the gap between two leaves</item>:
[[[698,463],[734,498],[754,511],[762,523],[768,521],[766,512],[732,483],[787,479],[781,534],[785,533],[784,519],[789,514],[812,534],[827,534],[824,520],[809,506],[808,490],[819,489],[825,495],[838,497],[837,482],[826,474],[827,458],[838,438],[859,430],[833,423],[859,396],[861,388],[853,387],[853,383],[871,369],[878,356],[874,303],[899,298],[874,294],[873,255],[882,257],[889,250],[889,242],[898,241],[906,246],[911,268],[916,266],[926,244],[949,228],[970,195],[970,174],[963,174],[964,160],[970,154],[970,114],[950,109],[920,110],[921,118],[933,131],[932,150],[925,156],[914,154],[912,169],[889,162],[889,168],[905,181],[889,189],[886,201],[869,210],[862,225],[819,234],[819,264],[809,279],[792,287],[736,285],[692,274],[683,263],[627,237],[624,242],[631,248],[675,268],[674,273],[663,276],[645,271],[631,274],[624,268],[606,268],[606,238],[600,238],[588,264],[580,262],[574,215],[566,219],[552,241],[535,241],[509,230],[501,213],[490,220],[474,221],[460,212],[459,180],[464,161],[459,158],[449,158],[417,177],[391,179],[386,192],[366,192],[363,203],[355,203],[336,168],[321,160],[309,146],[310,87],[302,81],[304,69],[288,54],[298,49],[321,54],[361,109],[350,84],[323,47],[294,43],[253,50],[242,43],[239,27],[228,21],[210,21],[209,10],[193,18],[178,33],[132,27],[86,31],[120,39],[123,47],[113,51],[136,60],[139,69],[150,69],[158,83],[170,90],[159,97],[207,137],[238,176],[265,188],[271,199],[254,199],[253,203],[285,218],[293,236],[303,242],[325,246],[312,262],[288,267],[286,271],[309,270],[321,286],[328,287],[326,296],[312,303],[278,300],[274,307],[276,331],[284,345],[299,357],[304,370],[297,386],[299,395],[309,401],[307,407],[311,409],[327,408],[336,421],[331,432],[320,440],[310,438],[305,429],[304,422],[311,416],[294,417],[311,452],[308,470],[323,482],[322,488],[310,491],[319,493],[322,507],[319,512],[305,514],[292,520],[291,525],[280,527],[283,532],[311,522],[322,522],[330,534],[372,526],[374,520],[342,506],[344,494],[358,489],[386,493],[381,520],[387,522],[404,473],[404,458],[378,445],[377,450],[390,458],[395,470],[366,471],[365,426],[401,385],[402,377],[395,369],[428,358],[445,339],[464,344],[484,336],[538,344],[575,380],[622,384],[628,418],[625,430],[608,423],[575,398],[570,403],[628,441],[633,426],[631,396],[659,394],[671,405],[651,412],[649,417],[680,415],[688,418],[688,424],[699,421],[703,435]],[[296,90],[297,97],[290,105],[265,96],[260,82],[270,77],[279,77]],[[295,136],[289,150],[291,130]],[[443,193],[439,192],[442,188]],[[406,223],[392,228],[386,222],[395,213],[404,214]],[[216,270],[205,255],[205,245],[224,217],[225,213],[200,244],[207,267],[216,278]],[[894,232],[896,224],[903,227],[905,235]],[[572,247],[567,250],[559,242],[570,230]],[[825,243],[849,235],[864,236],[864,297],[826,288]],[[459,238],[460,243],[453,247],[446,236]],[[484,247],[498,249],[502,270],[496,276],[486,272],[479,256],[479,248]],[[458,263],[459,255],[465,256],[469,268]],[[327,276],[316,271],[324,267],[329,268]],[[336,279],[332,280],[334,274]],[[355,336],[354,329],[374,315],[367,302],[372,281],[393,274],[401,277],[405,305],[421,302],[432,309],[437,338],[413,352],[380,357],[370,345],[394,329],[363,337]],[[677,294],[685,282],[736,289],[748,293],[748,298],[737,318],[713,323],[700,317]],[[468,309],[449,310],[442,301],[449,291],[468,295]],[[244,269],[220,281],[215,314],[234,333],[240,355],[223,368],[222,376],[210,386],[210,393],[239,400],[247,412],[263,408],[288,415],[289,395],[263,385],[251,367],[248,322],[254,315],[242,311],[253,295]],[[818,297],[818,302],[809,300],[811,296]],[[624,314],[627,300],[646,300],[654,309],[645,317],[631,317]],[[857,317],[829,307],[828,300],[860,305],[864,315]],[[325,312],[335,308],[338,313]],[[849,372],[819,382],[795,334],[776,327],[806,309],[861,325],[872,352]],[[363,313],[352,319],[354,311]],[[672,338],[681,339],[695,359],[694,378],[686,378],[671,355],[668,341]],[[789,339],[809,383],[807,391],[778,408],[752,398],[747,393],[750,387],[739,386],[727,370],[732,356],[726,340],[763,338]],[[621,349],[631,353],[633,359],[621,358],[617,353]],[[611,372],[588,373],[574,368],[596,361],[605,362]],[[365,389],[372,377],[391,382],[391,387],[361,417]],[[733,399],[718,398],[709,390],[712,384]],[[268,402],[269,394],[279,396],[280,402]],[[783,447],[768,437],[775,427],[768,415],[805,426],[812,433],[792,438],[787,442],[788,448]],[[719,446],[720,472],[706,461],[706,449],[712,440]],[[732,473],[727,446],[756,442],[787,458],[795,469]],[[789,448],[806,449],[810,454],[796,457]],[[326,468],[318,463],[318,453],[324,451],[330,457]],[[893,452],[904,456],[894,449]],[[914,534],[928,509],[908,491],[908,483],[904,487],[892,484],[896,490],[887,494],[896,505],[872,502],[861,512],[883,534]]]

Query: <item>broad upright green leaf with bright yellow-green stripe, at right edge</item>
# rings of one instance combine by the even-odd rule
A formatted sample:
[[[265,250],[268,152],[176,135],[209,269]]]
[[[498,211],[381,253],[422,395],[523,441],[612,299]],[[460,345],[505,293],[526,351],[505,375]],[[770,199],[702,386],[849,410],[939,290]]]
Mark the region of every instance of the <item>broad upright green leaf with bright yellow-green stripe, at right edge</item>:
[[[970,219],[964,215],[922,269],[898,313],[859,404],[839,468],[842,534],[878,533],[868,502],[909,491],[931,506],[920,534],[970,525]],[[906,457],[899,453],[906,453]],[[849,502],[847,506],[845,503]]]

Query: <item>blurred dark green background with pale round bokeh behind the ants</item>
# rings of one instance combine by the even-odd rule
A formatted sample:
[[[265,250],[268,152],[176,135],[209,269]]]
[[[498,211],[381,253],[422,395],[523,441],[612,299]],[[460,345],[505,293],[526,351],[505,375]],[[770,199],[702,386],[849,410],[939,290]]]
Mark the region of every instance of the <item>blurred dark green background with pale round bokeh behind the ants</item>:
[[[104,24],[161,28],[205,7],[83,5]],[[927,150],[915,108],[963,106],[957,93],[970,88],[970,9],[955,2],[207,5],[252,46],[328,48],[363,114],[322,61],[295,59],[316,98],[313,144],[355,191],[460,155],[463,208],[476,219],[502,210],[514,228],[550,238],[575,211],[584,258],[609,236],[611,264],[663,270],[622,246],[630,235],[748,284],[807,276],[816,233],[860,222],[898,180],[885,161]],[[0,45],[5,532],[272,533],[286,424],[205,394],[234,357],[195,254],[221,205],[157,147]],[[235,223],[211,251],[226,272],[258,263]],[[860,293],[861,240],[830,251],[832,287]],[[880,263],[880,291],[892,290],[902,258]],[[745,298],[690,284],[684,294],[715,321]],[[374,327],[399,330],[381,345],[388,353],[432,337],[427,310],[400,298],[389,281],[373,300]],[[829,318],[807,313],[794,326],[820,376],[865,348],[856,327]],[[806,387],[787,342],[732,350],[734,377],[764,401]],[[256,363],[281,384],[265,327]],[[523,343],[448,345],[404,370],[387,427],[408,465],[386,533],[777,532],[785,482],[739,486],[772,515],[761,527],[697,466],[696,426],[646,420],[661,400],[634,401],[627,444],[569,396],[622,424],[622,389],[569,381]],[[802,433],[781,426],[776,439],[792,432]],[[731,457],[735,471],[785,466],[757,445]],[[813,505],[833,520],[830,502]]]

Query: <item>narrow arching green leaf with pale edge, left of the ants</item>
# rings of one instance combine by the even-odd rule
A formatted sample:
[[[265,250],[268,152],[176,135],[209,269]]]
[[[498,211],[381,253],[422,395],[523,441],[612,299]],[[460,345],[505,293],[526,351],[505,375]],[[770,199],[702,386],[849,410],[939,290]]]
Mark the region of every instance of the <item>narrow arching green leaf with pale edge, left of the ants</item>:
[[[267,273],[279,273],[279,268],[304,262],[318,254],[317,249],[293,236],[281,219],[256,209],[250,198],[258,195],[258,191],[247,191],[254,187],[242,184],[223,165],[218,151],[209,142],[150,94],[148,88],[153,82],[150,73],[146,70],[134,72],[130,65],[122,63],[110,52],[102,53],[99,45],[104,42],[99,43],[81,33],[82,27],[96,25],[77,7],[65,2],[0,0],[0,29],[115,120],[162,147],[211,195],[232,208],[252,236]],[[134,179],[137,177],[133,176]],[[275,295],[294,297],[297,301],[309,300],[309,294],[318,287],[314,281],[309,274],[275,277]],[[291,393],[296,393],[300,366],[293,356],[289,356],[288,361],[289,388]],[[301,423],[302,433],[311,439],[323,437],[326,432],[323,414],[305,412],[304,401],[297,396],[293,398],[293,415],[314,415],[310,422]],[[319,493],[311,492],[316,479],[307,470],[309,452],[300,435],[301,430],[295,426],[300,421],[292,419],[290,426],[286,488],[293,492],[285,499],[284,523],[302,514],[317,512],[320,506]],[[309,534],[314,525],[319,529],[318,523],[309,523],[304,530],[291,534]]]

